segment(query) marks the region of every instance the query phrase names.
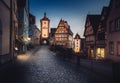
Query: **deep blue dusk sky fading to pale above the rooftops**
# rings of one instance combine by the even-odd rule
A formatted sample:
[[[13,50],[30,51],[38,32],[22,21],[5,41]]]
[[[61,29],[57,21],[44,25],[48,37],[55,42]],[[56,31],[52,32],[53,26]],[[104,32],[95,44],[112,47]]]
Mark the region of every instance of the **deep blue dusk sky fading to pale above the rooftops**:
[[[100,14],[103,6],[110,0],[30,0],[30,12],[36,16],[36,25],[40,28],[40,19],[44,12],[50,19],[50,27],[57,28],[60,19],[67,21],[74,34],[83,37],[87,14]]]

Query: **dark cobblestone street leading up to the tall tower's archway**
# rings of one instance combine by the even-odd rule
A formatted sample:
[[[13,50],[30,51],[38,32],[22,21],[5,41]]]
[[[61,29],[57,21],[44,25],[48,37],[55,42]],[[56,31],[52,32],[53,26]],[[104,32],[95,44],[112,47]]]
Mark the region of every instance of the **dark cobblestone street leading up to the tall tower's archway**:
[[[41,46],[35,52],[19,55],[0,70],[0,83],[114,83],[76,64],[59,59]]]

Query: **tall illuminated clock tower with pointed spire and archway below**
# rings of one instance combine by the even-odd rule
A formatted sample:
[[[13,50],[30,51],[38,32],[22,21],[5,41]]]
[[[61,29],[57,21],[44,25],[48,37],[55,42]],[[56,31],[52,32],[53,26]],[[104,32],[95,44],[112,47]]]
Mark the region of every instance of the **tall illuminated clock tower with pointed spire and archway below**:
[[[50,20],[46,17],[46,13],[44,13],[44,17],[40,20],[41,24],[41,44],[49,44],[49,28],[50,28]]]

